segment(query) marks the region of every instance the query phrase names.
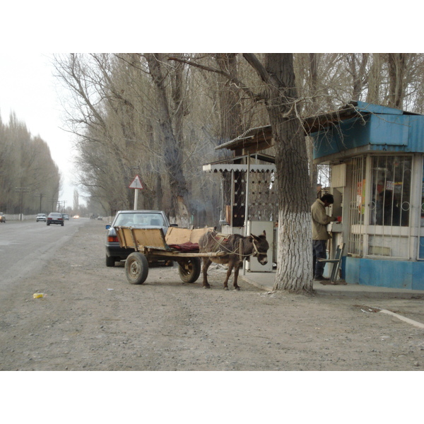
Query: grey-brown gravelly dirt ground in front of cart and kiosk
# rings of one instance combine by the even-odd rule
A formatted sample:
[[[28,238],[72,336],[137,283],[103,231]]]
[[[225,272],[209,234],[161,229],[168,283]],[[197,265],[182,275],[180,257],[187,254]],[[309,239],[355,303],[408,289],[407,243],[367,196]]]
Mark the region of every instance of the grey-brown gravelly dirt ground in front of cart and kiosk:
[[[224,291],[177,268],[131,285],[105,266],[105,222],[88,220],[61,256],[0,299],[0,370],[404,370],[424,367],[423,299]],[[44,297],[33,299],[33,293]]]

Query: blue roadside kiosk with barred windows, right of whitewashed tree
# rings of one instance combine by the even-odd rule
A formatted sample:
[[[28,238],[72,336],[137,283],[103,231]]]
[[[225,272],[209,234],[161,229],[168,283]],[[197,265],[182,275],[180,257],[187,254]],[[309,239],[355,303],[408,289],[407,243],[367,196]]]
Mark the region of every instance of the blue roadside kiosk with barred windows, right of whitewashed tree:
[[[347,283],[424,290],[424,115],[366,102],[305,120],[330,166],[329,255]],[[326,267],[329,268],[329,267]]]

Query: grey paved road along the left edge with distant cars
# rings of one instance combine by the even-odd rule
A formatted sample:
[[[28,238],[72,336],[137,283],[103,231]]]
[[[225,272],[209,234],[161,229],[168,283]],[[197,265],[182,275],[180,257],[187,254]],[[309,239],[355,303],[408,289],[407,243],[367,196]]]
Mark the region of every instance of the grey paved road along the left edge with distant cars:
[[[47,260],[61,254],[61,246],[87,221],[71,218],[63,227],[47,226],[35,219],[0,223],[0,290],[39,271]]]

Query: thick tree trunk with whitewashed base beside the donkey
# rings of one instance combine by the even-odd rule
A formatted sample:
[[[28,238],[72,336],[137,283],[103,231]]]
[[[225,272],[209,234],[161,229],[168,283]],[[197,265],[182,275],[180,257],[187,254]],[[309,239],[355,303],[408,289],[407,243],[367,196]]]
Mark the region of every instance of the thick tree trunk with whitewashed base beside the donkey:
[[[274,290],[311,293],[312,236],[305,134],[294,112],[293,54],[266,54],[264,69],[245,55],[268,84],[267,109],[276,140],[278,259]]]

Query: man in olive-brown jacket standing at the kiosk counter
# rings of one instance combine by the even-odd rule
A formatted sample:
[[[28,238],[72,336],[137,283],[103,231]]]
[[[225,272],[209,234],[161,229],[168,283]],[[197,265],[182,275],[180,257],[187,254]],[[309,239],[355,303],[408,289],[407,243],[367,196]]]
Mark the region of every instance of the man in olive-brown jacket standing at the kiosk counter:
[[[332,204],[334,204],[333,195],[324,194],[321,199],[314,201],[314,204],[311,206],[312,252],[314,255],[314,280],[316,281],[329,280],[329,278],[323,276],[325,262],[321,262],[318,259],[326,259],[326,241],[330,238],[326,230],[326,225],[331,223],[331,221],[337,220],[337,218],[328,216],[325,211],[325,208]]]

